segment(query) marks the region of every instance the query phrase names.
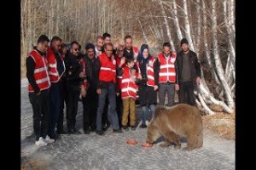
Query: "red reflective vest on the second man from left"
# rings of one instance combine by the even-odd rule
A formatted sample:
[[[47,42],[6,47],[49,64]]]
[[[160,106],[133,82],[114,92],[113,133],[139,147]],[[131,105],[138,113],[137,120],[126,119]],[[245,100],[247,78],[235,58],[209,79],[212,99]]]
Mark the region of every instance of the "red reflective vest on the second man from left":
[[[50,82],[59,82],[61,76],[57,70],[57,60],[55,59],[55,54],[51,48],[47,48],[47,57],[48,61],[48,74],[49,74],[49,81]],[[62,58],[61,58],[62,59]],[[61,75],[64,71],[61,73]]]

